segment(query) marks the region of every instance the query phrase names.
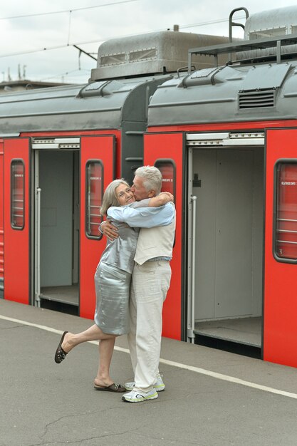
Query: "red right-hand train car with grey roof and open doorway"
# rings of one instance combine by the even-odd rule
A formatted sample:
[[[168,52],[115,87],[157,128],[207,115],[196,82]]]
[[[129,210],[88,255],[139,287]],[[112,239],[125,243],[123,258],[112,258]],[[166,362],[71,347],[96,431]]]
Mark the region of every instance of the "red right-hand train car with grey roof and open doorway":
[[[176,196],[165,336],[250,346],[293,367],[296,32],[291,6],[248,17],[244,41],[189,49],[188,72],[152,95],[144,147]],[[212,68],[193,71],[194,55]]]

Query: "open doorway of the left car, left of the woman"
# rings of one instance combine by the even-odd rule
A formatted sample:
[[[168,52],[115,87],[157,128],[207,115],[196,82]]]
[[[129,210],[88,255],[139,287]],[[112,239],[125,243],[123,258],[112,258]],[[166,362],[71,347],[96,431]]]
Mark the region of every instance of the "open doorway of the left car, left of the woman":
[[[74,314],[79,306],[78,149],[79,144],[77,150],[33,151],[34,303]]]

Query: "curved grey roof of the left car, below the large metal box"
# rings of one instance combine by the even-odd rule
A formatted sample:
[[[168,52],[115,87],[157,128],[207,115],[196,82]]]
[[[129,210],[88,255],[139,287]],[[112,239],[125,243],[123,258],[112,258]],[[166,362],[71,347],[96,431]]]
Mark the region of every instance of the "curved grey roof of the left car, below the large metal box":
[[[96,81],[0,95],[0,134],[118,129],[146,120],[147,98],[168,76]]]

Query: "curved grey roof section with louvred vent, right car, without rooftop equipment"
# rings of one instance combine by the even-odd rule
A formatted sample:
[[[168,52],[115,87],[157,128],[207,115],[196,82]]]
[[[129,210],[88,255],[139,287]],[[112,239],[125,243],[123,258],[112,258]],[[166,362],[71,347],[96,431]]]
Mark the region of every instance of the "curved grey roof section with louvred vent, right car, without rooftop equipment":
[[[297,63],[194,71],[157,88],[148,125],[297,118]]]

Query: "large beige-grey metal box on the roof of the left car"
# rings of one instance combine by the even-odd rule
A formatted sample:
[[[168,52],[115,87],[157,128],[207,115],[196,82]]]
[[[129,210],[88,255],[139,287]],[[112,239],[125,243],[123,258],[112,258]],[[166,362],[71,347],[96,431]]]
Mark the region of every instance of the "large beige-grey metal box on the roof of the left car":
[[[165,74],[187,66],[187,51],[193,46],[226,43],[228,38],[204,34],[161,31],[114,38],[98,49],[97,68],[91,71],[90,81]],[[224,56],[223,56],[224,57]],[[209,56],[193,57],[200,68],[213,65]],[[221,63],[224,63],[222,58]]]

